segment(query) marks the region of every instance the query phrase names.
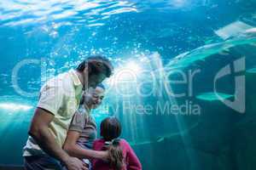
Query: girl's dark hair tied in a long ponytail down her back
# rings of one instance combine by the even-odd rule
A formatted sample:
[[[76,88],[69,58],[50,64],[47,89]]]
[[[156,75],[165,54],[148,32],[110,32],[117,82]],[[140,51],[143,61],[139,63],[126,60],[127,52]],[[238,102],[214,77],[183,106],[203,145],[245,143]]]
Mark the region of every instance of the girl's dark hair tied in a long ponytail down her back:
[[[108,156],[110,167],[116,170],[121,170],[124,166],[123,150],[119,145],[119,136],[122,127],[116,117],[107,117],[101,123],[101,136],[106,141],[110,141],[108,146]]]

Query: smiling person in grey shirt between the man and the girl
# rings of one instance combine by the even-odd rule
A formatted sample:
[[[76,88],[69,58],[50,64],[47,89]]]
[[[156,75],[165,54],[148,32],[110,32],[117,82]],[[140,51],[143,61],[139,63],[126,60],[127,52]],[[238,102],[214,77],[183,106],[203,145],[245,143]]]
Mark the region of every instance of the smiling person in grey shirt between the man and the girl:
[[[88,92],[84,94],[79,110],[73,116],[67,139],[63,145],[70,156],[84,159],[89,165],[88,158],[108,159],[108,151],[92,150],[92,144],[96,139],[96,122],[90,115],[90,111],[102,104],[104,93],[104,86],[99,84],[96,88],[89,88]]]

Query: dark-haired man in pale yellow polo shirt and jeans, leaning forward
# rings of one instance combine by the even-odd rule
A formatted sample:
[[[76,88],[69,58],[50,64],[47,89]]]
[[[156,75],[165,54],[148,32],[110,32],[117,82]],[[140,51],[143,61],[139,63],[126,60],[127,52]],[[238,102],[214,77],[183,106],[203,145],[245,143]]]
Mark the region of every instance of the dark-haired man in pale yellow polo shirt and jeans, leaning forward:
[[[58,170],[61,169],[60,162],[68,170],[87,169],[78,158],[68,156],[61,146],[79,106],[83,88],[96,88],[112,72],[108,59],[92,56],[84,59],[76,70],[62,73],[44,84],[23,151],[27,170]]]

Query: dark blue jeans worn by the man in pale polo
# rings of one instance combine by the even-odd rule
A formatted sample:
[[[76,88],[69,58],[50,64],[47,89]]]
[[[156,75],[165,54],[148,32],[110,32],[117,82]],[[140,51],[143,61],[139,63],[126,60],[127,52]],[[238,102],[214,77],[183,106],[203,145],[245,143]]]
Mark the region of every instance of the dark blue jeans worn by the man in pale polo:
[[[50,156],[25,156],[26,170],[62,170],[60,161]]]

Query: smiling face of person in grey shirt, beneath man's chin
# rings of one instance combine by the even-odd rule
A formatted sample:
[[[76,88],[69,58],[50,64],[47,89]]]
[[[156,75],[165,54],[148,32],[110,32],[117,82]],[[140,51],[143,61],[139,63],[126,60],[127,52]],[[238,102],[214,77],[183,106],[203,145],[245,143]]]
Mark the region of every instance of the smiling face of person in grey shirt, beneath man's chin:
[[[102,104],[104,93],[105,90],[101,87],[89,88],[88,92],[84,94],[84,104],[87,105],[89,109],[96,109]]]

